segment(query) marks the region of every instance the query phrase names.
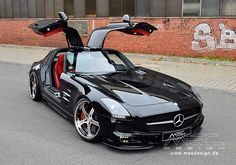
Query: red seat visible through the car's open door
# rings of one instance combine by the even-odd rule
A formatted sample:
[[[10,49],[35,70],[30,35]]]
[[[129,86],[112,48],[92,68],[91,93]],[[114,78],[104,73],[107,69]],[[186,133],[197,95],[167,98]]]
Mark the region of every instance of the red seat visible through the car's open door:
[[[55,86],[60,89],[60,76],[64,70],[64,54],[58,57],[58,60],[54,67]]]

